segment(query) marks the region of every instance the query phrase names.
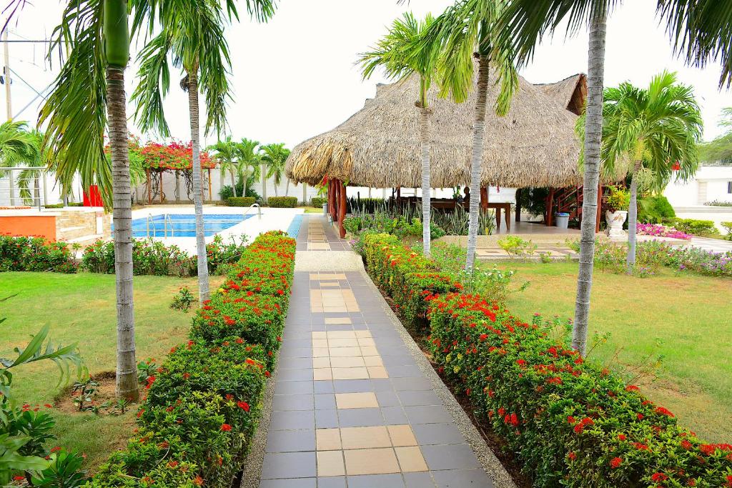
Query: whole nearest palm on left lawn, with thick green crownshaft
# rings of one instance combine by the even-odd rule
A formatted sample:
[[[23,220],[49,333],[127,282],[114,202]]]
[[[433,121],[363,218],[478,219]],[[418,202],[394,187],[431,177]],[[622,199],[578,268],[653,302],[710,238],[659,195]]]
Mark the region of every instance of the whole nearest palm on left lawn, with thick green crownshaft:
[[[49,56],[57,47],[64,46],[70,52],[39,117],[39,125],[47,124],[42,150],[53,157],[56,178],[62,187],[69,188],[79,174],[84,188],[99,184],[105,205],[112,204],[116,394],[136,400],[132,211],[124,94],[124,70],[130,57],[127,0],[70,0],[61,23],[53,31]],[[109,134],[111,168],[104,150],[105,129]]]

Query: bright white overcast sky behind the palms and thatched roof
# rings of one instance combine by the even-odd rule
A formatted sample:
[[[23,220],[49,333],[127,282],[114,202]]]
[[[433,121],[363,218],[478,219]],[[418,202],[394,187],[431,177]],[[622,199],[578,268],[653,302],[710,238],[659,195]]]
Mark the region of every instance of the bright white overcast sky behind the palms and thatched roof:
[[[59,20],[58,0],[31,0],[11,26],[10,39],[42,39]],[[362,108],[373,97],[381,76],[362,81],[354,66],[357,54],[373,45],[386,26],[406,10],[418,17],[438,15],[451,0],[280,0],[280,7],[267,24],[244,20],[229,31],[233,60],[231,83],[234,102],[228,123],[234,138],[252,138],[261,143],[284,142],[288,147],[337,124]],[[732,106],[732,93],[719,91],[717,64],[705,70],[684,67],[671,52],[664,29],[654,15],[654,0],[626,1],[608,22],[605,86],[630,80],[646,86],[663,69],[679,72],[679,80],[695,89],[709,140],[720,134],[717,121],[723,107]],[[20,77],[41,91],[53,81],[56,70],[43,59],[42,45],[10,45],[10,64]],[[564,31],[537,49],[534,63],[521,73],[532,83],[552,83],[587,71],[587,34],[571,40]],[[136,67],[127,70],[128,94],[135,82]],[[179,79],[178,75],[173,75]],[[12,83],[13,115],[31,102],[35,93],[18,78]],[[0,103],[5,102],[4,90]],[[4,106],[2,107],[4,109]],[[38,100],[17,119],[34,121]],[[173,136],[189,140],[187,96],[171,83],[165,102]],[[134,108],[128,108],[133,113]],[[202,118],[203,120],[203,118]],[[138,133],[130,121],[132,132]],[[206,143],[215,142],[209,136]]]

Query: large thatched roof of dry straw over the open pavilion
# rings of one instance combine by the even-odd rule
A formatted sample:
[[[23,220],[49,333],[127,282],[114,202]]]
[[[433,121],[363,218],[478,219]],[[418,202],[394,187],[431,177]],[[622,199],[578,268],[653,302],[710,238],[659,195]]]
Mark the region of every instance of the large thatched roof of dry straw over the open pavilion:
[[[421,186],[419,113],[414,106],[418,86],[417,76],[377,86],[376,97],[350,119],[293,149],[286,166],[288,177],[309,184],[329,176],[354,186]],[[558,95],[520,78],[511,110],[498,117],[492,110],[497,94],[498,87],[491,83],[481,186],[580,184],[577,116],[562,107]],[[475,97],[473,91],[465,103],[455,104],[438,99],[436,87],[430,89],[432,187],[470,181]]]

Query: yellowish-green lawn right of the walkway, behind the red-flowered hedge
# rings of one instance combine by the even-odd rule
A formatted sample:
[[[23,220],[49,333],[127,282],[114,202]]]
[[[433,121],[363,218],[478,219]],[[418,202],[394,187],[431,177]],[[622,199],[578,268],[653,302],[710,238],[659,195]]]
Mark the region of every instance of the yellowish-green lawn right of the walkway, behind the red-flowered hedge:
[[[509,297],[512,312],[526,320],[534,312],[574,315],[577,263],[498,267],[516,269],[517,282],[531,282]],[[627,371],[663,355],[660,377],[651,383],[646,375],[639,382],[644,393],[701,438],[732,440],[732,280],[668,269],[648,278],[596,271],[590,335],[594,331],[611,334],[591,354],[610,367]]]

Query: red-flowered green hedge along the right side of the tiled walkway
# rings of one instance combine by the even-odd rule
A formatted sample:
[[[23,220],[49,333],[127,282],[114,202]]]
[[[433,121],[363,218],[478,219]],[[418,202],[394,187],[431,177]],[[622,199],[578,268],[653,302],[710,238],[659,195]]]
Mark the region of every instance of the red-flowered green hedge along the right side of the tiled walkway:
[[[526,323],[490,299],[420,282],[397,290],[429,261],[391,236],[365,239],[370,274],[397,306],[422,300],[433,360],[522,459],[534,486],[732,486],[732,445],[701,442],[637,386],[556,342],[539,317]]]

